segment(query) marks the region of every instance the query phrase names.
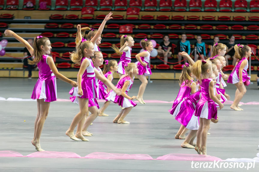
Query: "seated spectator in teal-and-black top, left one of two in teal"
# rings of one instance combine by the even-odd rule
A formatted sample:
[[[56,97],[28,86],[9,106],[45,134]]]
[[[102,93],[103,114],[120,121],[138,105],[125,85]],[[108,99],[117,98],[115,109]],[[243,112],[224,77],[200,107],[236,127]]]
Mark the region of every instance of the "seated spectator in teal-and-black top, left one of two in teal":
[[[190,55],[191,52],[191,45],[190,45],[190,41],[186,40],[187,36],[185,33],[182,33],[182,40],[180,40],[177,44],[178,46],[178,64],[181,64],[181,60],[182,60],[182,56],[181,56],[181,52],[185,51],[186,53],[188,53]],[[187,62],[187,60],[185,59],[184,62]]]

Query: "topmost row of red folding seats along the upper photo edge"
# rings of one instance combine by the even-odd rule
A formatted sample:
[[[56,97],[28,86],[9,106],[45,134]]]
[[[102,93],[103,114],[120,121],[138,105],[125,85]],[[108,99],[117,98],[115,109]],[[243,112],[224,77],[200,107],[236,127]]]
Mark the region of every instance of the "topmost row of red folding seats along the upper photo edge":
[[[34,7],[28,8],[26,4],[31,2]],[[39,4],[44,3],[46,8],[38,8],[38,10],[50,10],[51,0],[39,0]],[[23,0],[23,10],[34,10],[35,9],[35,0]],[[7,10],[17,10],[19,5],[19,0],[6,0],[6,9]],[[4,6],[4,0],[0,0],[0,6]],[[86,7],[98,8],[98,0],[86,0]],[[204,2],[204,11],[217,11],[217,1],[216,0],[206,0]],[[83,7],[83,0],[71,0],[69,10],[81,10]],[[128,7],[127,0],[115,0],[114,9],[112,0],[100,0],[99,10],[126,10]],[[130,0],[129,7],[138,7],[141,9],[142,0]],[[158,3],[157,0],[145,0],[144,10],[155,11],[157,10]],[[186,0],[175,0],[174,5],[172,0],[160,0],[159,1],[159,10],[160,11],[171,11],[174,7],[175,11],[186,11],[187,10],[187,1]],[[232,9],[231,0],[221,0],[219,2],[219,11],[230,12]],[[3,9],[2,7],[0,9]],[[68,10],[68,0],[56,0],[55,10]],[[202,10],[202,1],[201,0],[190,0],[189,1],[189,11],[201,11]],[[236,12],[246,12],[247,1],[246,0],[236,0],[234,3],[234,11]],[[259,1],[252,0],[250,1],[250,12],[259,12]]]

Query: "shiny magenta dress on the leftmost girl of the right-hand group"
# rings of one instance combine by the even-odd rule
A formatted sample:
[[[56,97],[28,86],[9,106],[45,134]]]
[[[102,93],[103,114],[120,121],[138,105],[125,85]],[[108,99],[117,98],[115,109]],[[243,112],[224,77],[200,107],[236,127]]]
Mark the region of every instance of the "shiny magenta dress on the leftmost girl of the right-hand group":
[[[170,112],[170,114],[173,115],[174,117],[176,117],[176,115],[179,112],[179,108],[176,109],[178,103],[181,102],[183,99],[189,97],[190,95],[191,95],[191,87],[188,87],[187,85],[185,85],[185,81],[183,81],[182,85],[180,86],[178,95],[173,102],[172,109],[168,110]]]

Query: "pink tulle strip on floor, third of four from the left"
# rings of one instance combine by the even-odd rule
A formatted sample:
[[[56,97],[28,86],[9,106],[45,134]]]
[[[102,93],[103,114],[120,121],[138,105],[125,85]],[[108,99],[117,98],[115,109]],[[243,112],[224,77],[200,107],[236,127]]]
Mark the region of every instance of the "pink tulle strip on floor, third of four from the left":
[[[94,159],[153,159],[147,154],[123,154],[123,153],[105,153],[105,152],[93,152],[86,155],[84,158]]]

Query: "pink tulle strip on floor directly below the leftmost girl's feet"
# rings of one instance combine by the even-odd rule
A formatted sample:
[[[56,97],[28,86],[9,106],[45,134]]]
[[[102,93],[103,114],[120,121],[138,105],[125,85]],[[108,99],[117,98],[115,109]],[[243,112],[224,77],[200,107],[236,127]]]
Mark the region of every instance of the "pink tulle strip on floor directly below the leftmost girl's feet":
[[[34,152],[26,157],[34,157],[34,158],[81,158],[80,155],[77,155],[74,152],[56,152],[56,151],[42,151],[42,152]]]

